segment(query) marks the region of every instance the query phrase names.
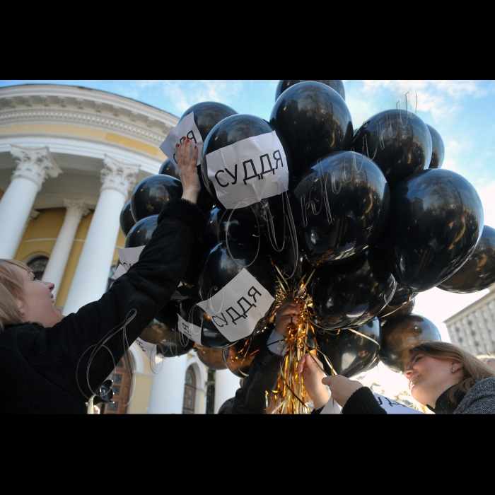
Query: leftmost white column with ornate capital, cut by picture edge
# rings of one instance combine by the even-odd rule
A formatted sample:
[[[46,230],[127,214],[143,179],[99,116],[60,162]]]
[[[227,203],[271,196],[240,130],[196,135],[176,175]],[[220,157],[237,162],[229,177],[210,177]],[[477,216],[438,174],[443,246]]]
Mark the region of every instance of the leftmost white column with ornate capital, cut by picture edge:
[[[13,258],[36,195],[48,177],[62,173],[54,162],[49,148],[11,147],[11,154],[17,162],[10,185],[0,201],[0,258]]]

